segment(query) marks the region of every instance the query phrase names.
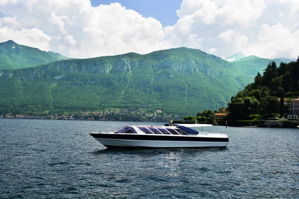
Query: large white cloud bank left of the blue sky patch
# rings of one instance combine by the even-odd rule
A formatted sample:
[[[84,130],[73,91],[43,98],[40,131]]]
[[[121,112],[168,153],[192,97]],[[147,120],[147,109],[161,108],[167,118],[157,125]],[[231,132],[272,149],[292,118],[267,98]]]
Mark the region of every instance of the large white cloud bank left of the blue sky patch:
[[[92,7],[89,0],[7,0],[1,3],[0,12],[6,18],[0,18],[0,27],[14,32],[32,27],[42,30],[48,36],[50,50],[65,56],[88,58],[127,52],[149,53],[160,49],[164,38],[159,21],[145,18],[120,3],[98,7]],[[24,44],[27,37],[23,40],[18,37],[18,42]],[[7,33],[0,37],[0,42],[5,41],[4,38],[13,39]]]

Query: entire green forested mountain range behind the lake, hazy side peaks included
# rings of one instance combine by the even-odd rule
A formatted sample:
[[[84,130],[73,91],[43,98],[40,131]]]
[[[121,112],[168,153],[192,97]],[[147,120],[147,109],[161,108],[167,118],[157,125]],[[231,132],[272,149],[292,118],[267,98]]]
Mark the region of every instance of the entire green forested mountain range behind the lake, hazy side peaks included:
[[[250,56],[229,63],[184,47],[67,59],[11,40],[0,43],[0,113],[147,107],[194,115],[227,106],[272,61]]]

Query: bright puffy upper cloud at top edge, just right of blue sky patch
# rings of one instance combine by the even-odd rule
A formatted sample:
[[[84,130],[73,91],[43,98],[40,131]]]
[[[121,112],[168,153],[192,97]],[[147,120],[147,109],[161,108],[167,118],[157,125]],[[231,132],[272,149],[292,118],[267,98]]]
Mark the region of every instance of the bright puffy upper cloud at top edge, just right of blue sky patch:
[[[265,7],[264,0],[183,0],[176,13],[180,18],[193,15],[207,25],[220,22],[248,26]]]

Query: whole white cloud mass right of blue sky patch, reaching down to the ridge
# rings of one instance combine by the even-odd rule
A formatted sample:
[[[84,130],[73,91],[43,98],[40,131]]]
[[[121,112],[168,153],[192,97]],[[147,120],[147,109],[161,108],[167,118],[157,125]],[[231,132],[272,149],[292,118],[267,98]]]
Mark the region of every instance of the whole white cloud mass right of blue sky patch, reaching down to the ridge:
[[[269,58],[296,58],[298,55],[293,50],[296,47],[289,45],[290,39],[286,37],[289,35],[291,40],[295,40],[299,30],[299,15],[294,13],[294,10],[298,10],[297,5],[298,0],[183,0],[176,11],[180,19],[174,26],[165,27],[164,30],[168,41],[179,41],[170,42],[173,46],[188,46],[188,35],[196,35],[201,38],[196,48],[206,52],[215,48],[217,52],[213,53],[221,57],[245,51],[248,55]],[[291,14],[286,14],[291,10]],[[281,23],[284,28],[274,26],[274,22]],[[261,34],[267,28],[262,24],[273,27],[272,31],[285,33],[273,32],[271,35],[266,32],[267,36],[263,37]],[[273,44],[274,39],[279,40],[278,46]],[[284,45],[284,50],[279,45]],[[265,53],[262,50],[265,48],[271,53]]]

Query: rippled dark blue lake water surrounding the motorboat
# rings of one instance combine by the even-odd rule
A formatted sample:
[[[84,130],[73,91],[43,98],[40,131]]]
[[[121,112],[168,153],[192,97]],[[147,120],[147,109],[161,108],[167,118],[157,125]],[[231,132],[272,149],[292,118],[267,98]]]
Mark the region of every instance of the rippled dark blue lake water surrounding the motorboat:
[[[0,119],[0,198],[299,198],[299,129],[213,126],[226,149],[110,150],[89,135],[108,124],[124,122]]]

